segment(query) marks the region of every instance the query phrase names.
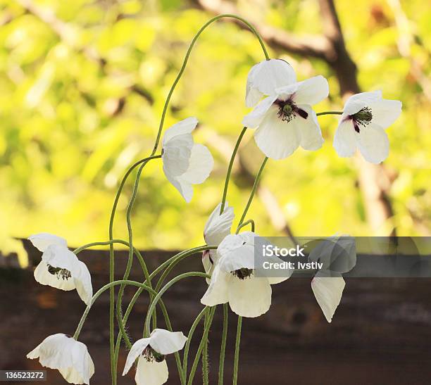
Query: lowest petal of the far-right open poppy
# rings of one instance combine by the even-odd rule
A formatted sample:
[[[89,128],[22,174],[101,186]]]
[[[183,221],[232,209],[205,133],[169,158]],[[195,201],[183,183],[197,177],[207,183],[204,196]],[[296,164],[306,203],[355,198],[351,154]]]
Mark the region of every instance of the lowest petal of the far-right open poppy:
[[[389,155],[389,139],[382,127],[370,122],[366,127],[360,126],[358,149],[370,163],[381,163]]]

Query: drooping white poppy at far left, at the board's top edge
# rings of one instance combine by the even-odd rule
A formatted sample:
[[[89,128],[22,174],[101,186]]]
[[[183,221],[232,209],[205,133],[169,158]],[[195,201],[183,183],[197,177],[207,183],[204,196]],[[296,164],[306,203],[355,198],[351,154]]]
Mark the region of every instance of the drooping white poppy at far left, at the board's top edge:
[[[65,291],[76,289],[82,301],[90,305],[92,277],[85,263],[68,249],[66,240],[48,233],[35,234],[28,239],[43,252],[42,261],[35,269],[36,281]]]

